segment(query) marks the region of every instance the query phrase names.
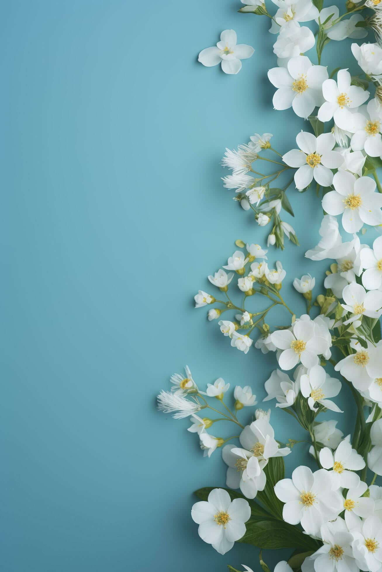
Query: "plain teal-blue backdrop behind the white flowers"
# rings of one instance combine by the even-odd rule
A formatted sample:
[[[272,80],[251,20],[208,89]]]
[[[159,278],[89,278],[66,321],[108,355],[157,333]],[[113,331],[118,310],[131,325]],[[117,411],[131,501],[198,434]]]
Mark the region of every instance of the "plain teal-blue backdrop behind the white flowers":
[[[225,466],[220,452],[203,458],[187,421],[155,408],[186,363],[199,387],[223,376],[250,384],[259,402],[275,367],[274,355],[231,349],[206,308],[193,308],[234,241],[264,244],[269,232],[222,188],[225,147],[271,132],[285,153],[306,127],[292,110],[272,109],[269,20],[238,8],[235,0],[2,2],[5,572],[257,567],[254,547],[221,556],[200,541],[192,491],[223,486]],[[197,62],[227,28],[256,50],[237,76]],[[350,44],[331,42],[322,63],[335,54],[336,67],[356,72]],[[269,262],[282,260],[282,292],[301,313],[294,276],[312,272],[317,295],[327,264],[304,259],[321,221],[314,192],[291,188],[289,197],[296,218],[283,218],[302,247],[271,249]],[[269,319],[287,320],[283,309]],[[337,418],[346,434],[347,388],[345,402]],[[304,437],[272,405],[277,438]],[[310,462],[306,447],[293,449],[289,473]],[[271,565],[280,558],[264,555]]]

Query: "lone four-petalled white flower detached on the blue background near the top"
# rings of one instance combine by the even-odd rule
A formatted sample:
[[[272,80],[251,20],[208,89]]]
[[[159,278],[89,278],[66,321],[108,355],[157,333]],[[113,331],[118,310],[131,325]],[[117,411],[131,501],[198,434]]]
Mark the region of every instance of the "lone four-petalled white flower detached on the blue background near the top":
[[[216,66],[222,64],[222,70],[225,73],[237,74],[242,67],[241,59],[250,58],[254,53],[251,46],[246,43],[237,44],[237,35],[235,30],[224,30],[220,34],[220,42],[217,47],[206,47],[202,50],[198,57],[198,62],[203,66]]]

